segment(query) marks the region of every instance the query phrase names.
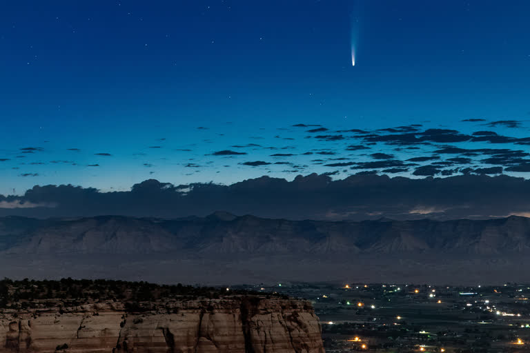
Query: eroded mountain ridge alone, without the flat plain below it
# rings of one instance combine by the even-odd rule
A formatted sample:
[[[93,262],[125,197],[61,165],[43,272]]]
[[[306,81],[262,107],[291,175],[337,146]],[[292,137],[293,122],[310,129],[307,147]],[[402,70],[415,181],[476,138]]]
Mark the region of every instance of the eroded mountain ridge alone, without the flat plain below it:
[[[530,254],[530,219],[0,218],[4,254]]]

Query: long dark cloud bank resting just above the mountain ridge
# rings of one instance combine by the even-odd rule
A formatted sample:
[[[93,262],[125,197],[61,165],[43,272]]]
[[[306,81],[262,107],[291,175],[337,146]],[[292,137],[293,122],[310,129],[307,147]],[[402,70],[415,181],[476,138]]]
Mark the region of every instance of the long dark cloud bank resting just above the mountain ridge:
[[[336,174],[337,171],[329,172]],[[529,215],[530,181],[499,175],[409,179],[363,171],[333,181],[309,174],[293,181],[270,177],[232,185],[173,185],[150,179],[127,192],[72,185],[35,186],[23,196],[0,196],[0,216],[204,216],[215,210],[284,219],[457,219]],[[389,172],[391,172],[389,170]],[[498,170],[475,170],[478,173]],[[26,203],[32,207],[9,205]]]

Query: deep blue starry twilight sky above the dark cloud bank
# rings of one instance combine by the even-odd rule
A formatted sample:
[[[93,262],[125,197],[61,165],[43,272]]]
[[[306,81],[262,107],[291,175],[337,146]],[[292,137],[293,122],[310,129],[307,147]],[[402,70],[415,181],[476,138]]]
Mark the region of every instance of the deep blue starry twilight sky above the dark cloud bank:
[[[295,123],[329,132],[418,123],[471,134],[515,120],[516,128],[493,130],[527,137],[529,13],[523,0],[4,3],[0,194],[48,183],[128,190],[150,177],[292,179],[293,165],[300,174],[331,172],[300,154],[345,142],[304,139]],[[261,147],[210,155],[248,143]],[[395,153],[388,145],[372,152]],[[295,156],[289,167],[239,164],[284,161],[273,153]]]

